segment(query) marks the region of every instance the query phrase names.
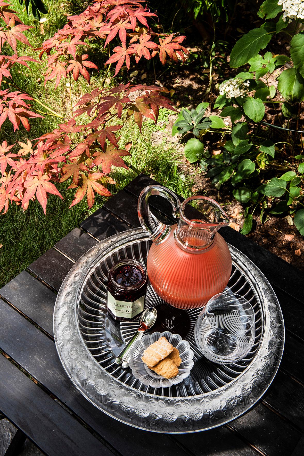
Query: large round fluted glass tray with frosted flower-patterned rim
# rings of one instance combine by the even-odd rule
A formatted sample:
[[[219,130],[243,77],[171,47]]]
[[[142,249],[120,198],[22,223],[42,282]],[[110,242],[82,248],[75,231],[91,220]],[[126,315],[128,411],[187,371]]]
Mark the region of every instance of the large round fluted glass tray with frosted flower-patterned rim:
[[[279,302],[255,264],[229,245],[233,265],[228,288],[244,296],[255,312],[251,351],[233,364],[208,361],[198,351],[194,338],[201,308],[178,311],[182,314],[172,318],[182,319],[186,334],[181,336],[194,352],[194,365],[178,384],[168,388],[147,386],[132,375],[130,368],[115,364],[115,358],[137,330],[138,319],[118,324],[108,316],[106,281],[111,266],[119,259],[134,258],[146,264],[150,245],[142,228],[128,230],[102,241],[73,265],[61,285],[54,310],[61,363],[88,400],[129,425],[183,433],[227,423],[258,401],[279,368],[284,348]],[[162,313],[167,305],[149,285],[145,306],[155,306]],[[159,327],[153,326],[154,331]]]

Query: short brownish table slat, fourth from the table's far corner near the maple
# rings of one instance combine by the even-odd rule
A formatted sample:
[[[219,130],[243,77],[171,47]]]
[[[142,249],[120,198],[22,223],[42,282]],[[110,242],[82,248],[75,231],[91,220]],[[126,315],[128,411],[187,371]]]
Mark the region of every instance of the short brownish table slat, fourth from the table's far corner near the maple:
[[[75,228],[63,239],[54,245],[54,249],[66,255],[69,259],[77,261],[87,250],[98,244],[96,239],[92,238],[80,228]]]

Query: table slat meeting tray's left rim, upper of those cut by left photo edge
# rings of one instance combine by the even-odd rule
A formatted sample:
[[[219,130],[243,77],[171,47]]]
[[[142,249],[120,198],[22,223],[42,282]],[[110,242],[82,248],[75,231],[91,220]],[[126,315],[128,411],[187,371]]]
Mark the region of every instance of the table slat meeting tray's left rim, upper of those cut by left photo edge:
[[[26,271],[20,272],[0,290],[0,296],[53,335],[53,312],[56,295]]]

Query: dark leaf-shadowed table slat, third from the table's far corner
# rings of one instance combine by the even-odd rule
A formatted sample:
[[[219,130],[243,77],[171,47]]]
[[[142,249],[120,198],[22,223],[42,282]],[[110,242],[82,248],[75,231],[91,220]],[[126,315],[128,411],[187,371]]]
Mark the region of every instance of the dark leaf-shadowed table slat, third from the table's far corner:
[[[121,222],[102,208],[81,222],[80,227],[101,241],[113,234],[130,229],[129,225]]]

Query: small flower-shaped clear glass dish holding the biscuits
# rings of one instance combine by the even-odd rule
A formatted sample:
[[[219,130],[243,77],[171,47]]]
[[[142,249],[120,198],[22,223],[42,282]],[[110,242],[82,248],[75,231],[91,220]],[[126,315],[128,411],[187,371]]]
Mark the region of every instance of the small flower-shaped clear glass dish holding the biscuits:
[[[142,361],[143,352],[152,343],[156,342],[160,337],[166,337],[173,347],[179,351],[182,363],[178,367],[178,374],[173,378],[164,378],[153,372]],[[135,342],[130,352],[129,366],[132,369],[132,374],[138,378],[144,385],[152,386],[152,388],[168,388],[172,385],[180,383],[184,378],[187,378],[193,368],[193,351],[187,341],[183,340],[179,334],[171,332],[153,332],[142,337],[140,341]]]

